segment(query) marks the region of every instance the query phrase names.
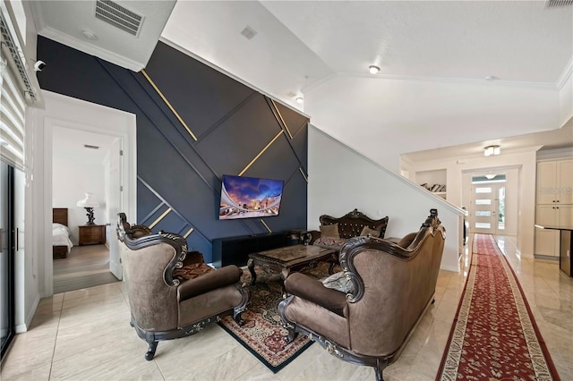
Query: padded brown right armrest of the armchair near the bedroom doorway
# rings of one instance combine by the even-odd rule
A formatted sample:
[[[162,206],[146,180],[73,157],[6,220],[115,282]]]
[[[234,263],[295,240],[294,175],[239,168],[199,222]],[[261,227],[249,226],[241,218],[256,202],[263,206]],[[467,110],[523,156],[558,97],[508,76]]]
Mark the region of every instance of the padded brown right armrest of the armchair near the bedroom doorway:
[[[242,270],[235,265],[229,265],[221,267],[217,271],[201,275],[198,278],[185,281],[179,285],[179,301],[190,299],[204,292],[210,292],[227,284],[236,284],[241,279],[241,275],[243,275]]]

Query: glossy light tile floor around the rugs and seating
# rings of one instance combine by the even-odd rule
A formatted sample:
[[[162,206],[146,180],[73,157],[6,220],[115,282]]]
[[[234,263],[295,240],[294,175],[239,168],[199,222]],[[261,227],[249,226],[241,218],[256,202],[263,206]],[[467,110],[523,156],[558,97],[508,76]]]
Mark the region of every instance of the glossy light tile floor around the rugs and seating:
[[[558,262],[520,258],[515,237],[499,237],[562,379],[573,379],[573,279]],[[469,248],[468,244],[468,248]],[[433,380],[466,283],[463,271],[440,271],[436,302],[386,380]],[[40,301],[25,334],[16,335],[3,361],[7,380],[373,380],[372,368],[337,360],[314,343],[273,374],[219,326],[161,342],[146,361],[144,343],[129,325],[123,284],[56,294]]]

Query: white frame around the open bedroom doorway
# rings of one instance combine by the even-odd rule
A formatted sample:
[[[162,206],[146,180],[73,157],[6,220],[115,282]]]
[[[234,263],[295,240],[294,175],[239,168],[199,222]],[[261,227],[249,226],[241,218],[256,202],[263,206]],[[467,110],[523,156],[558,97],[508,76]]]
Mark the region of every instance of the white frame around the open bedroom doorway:
[[[137,140],[135,114],[42,90],[46,109],[39,128],[44,129],[44,282],[43,297],[54,293],[52,263],[52,130],[55,125],[115,136],[124,141],[124,192],[122,203],[129,221],[137,220]],[[91,124],[88,124],[91,123]],[[110,222],[113,224],[113,222]],[[41,288],[40,284],[40,288]]]

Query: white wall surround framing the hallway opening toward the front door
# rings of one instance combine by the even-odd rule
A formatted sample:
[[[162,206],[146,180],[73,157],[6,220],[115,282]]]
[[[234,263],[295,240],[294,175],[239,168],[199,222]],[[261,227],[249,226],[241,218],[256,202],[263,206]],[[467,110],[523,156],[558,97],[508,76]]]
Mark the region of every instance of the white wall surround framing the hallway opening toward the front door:
[[[421,163],[402,162],[410,177],[419,171],[443,169],[447,171],[448,201],[459,207],[464,206],[464,175],[476,171],[489,172],[508,168],[519,168],[517,174],[517,246],[522,256],[533,258],[535,239],[535,173],[536,153],[539,146],[514,151],[501,149],[499,156],[449,157]],[[511,184],[515,184],[511,182]],[[511,185],[510,184],[510,185]],[[467,190],[466,190],[467,191]]]

